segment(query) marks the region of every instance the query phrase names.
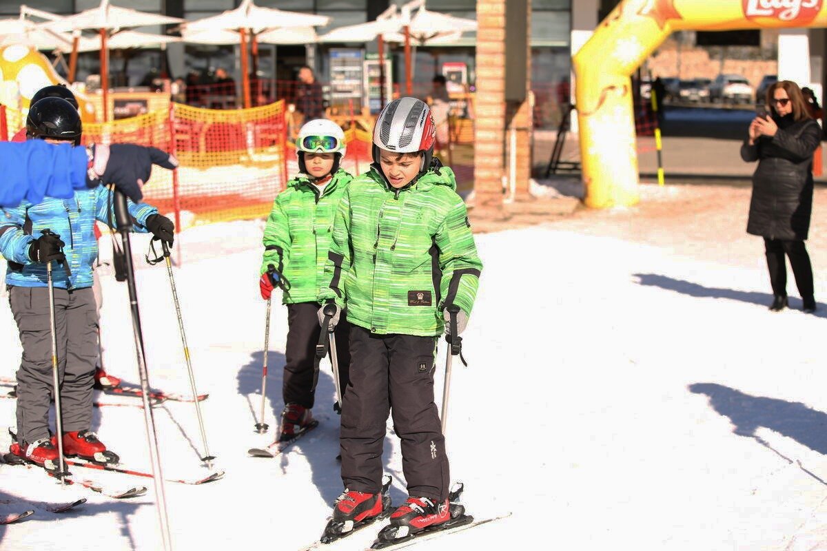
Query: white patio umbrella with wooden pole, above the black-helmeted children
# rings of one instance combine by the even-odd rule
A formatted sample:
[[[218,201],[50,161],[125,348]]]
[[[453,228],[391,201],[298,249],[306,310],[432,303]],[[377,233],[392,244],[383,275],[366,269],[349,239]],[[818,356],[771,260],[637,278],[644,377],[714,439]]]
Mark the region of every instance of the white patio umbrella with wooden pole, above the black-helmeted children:
[[[108,120],[109,112],[109,68],[108,40],[120,29],[132,26],[168,25],[180,23],[178,17],[162,16],[156,13],[139,12],[127,7],[112,6],[109,0],[101,0],[98,7],[93,7],[74,16],[64,17],[60,21],[45,23],[56,31],[82,31],[95,29],[100,34],[101,88],[103,89],[103,120]],[[74,76],[74,75],[73,75]]]

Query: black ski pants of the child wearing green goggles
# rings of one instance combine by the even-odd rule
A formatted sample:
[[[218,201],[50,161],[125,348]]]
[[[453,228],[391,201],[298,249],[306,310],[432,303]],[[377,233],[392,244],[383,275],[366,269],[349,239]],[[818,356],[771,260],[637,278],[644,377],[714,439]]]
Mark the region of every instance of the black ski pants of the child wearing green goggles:
[[[317,312],[318,302],[299,302],[287,305],[287,349],[284,352],[284,382],[281,389],[285,404],[299,404],[309,408],[316,400],[313,391],[313,369],[316,361],[316,345],[322,327]],[[339,384],[342,394],[347,387],[351,354],[347,336],[351,325],[342,319],[336,326],[336,354],[339,367]],[[335,399],[335,398],[334,398]]]

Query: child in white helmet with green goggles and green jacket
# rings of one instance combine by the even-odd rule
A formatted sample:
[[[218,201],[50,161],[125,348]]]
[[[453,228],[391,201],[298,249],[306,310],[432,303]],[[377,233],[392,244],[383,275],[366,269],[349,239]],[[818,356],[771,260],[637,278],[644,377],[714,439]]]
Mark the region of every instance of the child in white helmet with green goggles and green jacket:
[[[299,174],[275,198],[264,230],[261,297],[269,300],[273,288],[281,287],[282,301],[287,305],[281,440],[293,439],[313,422],[313,375],[321,331],[316,299],[323,282],[333,217],[352,179],[339,168],[346,149],[344,132],[336,123],[317,119],[302,126],[296,141]],[[348,329],[349,325],[344,324],[336,330],[342,389],[347,386],[350,364]]]

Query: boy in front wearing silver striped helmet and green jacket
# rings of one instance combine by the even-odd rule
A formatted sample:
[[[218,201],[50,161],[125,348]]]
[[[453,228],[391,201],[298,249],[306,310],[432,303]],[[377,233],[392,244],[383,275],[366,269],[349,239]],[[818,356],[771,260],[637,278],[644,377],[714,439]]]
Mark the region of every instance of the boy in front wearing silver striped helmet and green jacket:
[[[447,307],[465,329],[482,263],[451,169],[433,158],[428,106],[390,102],[376,120],[370,171],[342,197],[319,302],[351,323],[351,382],[342,404],[342,482],[323,541],[390,512],[382,487],[385,421],[402,440],[409,498],[390,515],[403,538],[451,519],[445,439],[433,397]],[[339,321],[340,312],[345,316]],[[323,322],[323,312],[318,312]],[[389,532],[385,532],[389,534]]]

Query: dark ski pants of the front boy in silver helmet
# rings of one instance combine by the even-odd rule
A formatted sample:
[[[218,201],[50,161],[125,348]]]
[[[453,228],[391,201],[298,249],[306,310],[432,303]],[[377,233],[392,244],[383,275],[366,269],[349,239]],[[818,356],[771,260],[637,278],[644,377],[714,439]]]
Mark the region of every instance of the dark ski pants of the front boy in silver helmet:
[[[411,496],[444,501],[448,456],[433,401],[437,337],[378,335],[351,325],[351,382],[342,405],[342,482],[380,492],[385,422],[393,414]]]

